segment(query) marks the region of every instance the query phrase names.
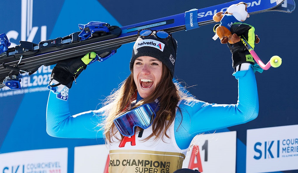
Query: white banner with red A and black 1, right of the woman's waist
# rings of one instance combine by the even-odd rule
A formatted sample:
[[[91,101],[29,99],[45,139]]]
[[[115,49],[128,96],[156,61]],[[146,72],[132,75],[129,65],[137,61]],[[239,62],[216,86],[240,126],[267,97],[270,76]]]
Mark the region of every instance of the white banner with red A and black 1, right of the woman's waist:
[[[236,131],[197,135],[183,168],[200,172],[236,172]]]

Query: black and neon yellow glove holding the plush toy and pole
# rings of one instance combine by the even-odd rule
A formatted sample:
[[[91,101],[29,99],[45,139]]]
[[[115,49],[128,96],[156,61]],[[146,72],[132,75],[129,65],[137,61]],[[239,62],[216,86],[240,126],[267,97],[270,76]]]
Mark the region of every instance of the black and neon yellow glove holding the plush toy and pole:
[[[235,23],[231,26],[231,33],[245,38],[249,45],[254,48],[255,43],[259,43],[260,39],[254,34],[254,27],[249,24]],[[235,44],[227,43],[230,51],[232,52],[232,66],[235,69],[239,64],[250,63],[254,64],[254,59],[245,47],[242,41]]]

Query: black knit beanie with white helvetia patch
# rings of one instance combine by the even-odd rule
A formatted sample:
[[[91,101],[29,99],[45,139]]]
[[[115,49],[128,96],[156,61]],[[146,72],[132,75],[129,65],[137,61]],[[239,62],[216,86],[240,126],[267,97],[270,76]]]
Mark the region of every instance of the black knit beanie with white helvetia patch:
[[[140,56],[150,56],[161,61],[174,77],[175,61],[176,61],[177,41],[169,36],[162,39],[156,37],[156,33],[142,37],[139,36],[134,44],[132,57],[130,61],[130,70],[134,67],[134,60]]]

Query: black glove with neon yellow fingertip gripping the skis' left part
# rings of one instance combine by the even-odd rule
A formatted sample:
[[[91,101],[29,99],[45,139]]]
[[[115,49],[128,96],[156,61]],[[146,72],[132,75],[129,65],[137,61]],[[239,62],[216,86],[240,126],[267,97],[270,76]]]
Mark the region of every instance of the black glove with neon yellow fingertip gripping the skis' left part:
[[[95,52],[87,53],[83,58],[71,58],[63,61],[59,61],[52,70],[51,81],[49,85],[51,87],[59,86],[60,84],[72,87],[72,82],[80,75],[80,73],[86,69],[87,65],[98,57]],[[58,81],[58,84],[51,85],[53,80]]]

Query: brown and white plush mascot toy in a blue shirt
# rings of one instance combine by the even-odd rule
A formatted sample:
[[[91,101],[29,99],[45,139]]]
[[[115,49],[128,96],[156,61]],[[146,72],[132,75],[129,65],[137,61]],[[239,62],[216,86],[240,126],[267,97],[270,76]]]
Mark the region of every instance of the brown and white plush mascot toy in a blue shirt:
[[[244,2],[229,6],[225,13],[222,11],[216,13],[213,16],[213,20],[215,22],[221,22],[215,30],[216,34],[221,39],[221,43],[226,44],[229,42],[230,44],[234,44],[239,42],[240,37],[238,37],[235,33],[232,34],[230,28],[235,22],[243,22],[248,17],[247,4]]]

